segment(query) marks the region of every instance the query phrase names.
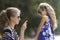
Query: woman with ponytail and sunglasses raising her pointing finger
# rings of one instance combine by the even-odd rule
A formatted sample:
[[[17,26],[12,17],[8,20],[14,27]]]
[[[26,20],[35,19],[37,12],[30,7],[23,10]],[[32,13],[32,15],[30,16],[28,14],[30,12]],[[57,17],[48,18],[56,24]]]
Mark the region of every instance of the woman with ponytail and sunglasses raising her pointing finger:
[[[15,25],[19,24],[20,10],[15,7],[9,7],[0,13],[0,33],[2,40],[24,40],[24,32],[26,29],[26,22],[21,27],[20,37],[15,31]]]

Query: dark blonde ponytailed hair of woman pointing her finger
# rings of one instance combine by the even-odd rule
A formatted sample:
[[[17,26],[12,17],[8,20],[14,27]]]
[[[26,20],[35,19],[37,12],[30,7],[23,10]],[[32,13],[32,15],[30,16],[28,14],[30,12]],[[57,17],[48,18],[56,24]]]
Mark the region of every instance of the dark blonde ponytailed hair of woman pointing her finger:
[[[7,27],[10,21],[10,17],[16,16],[16,13],[20,12],[18,8],[9,7],[5,10],[2,10],[0,13],[0,33],[3,32],[3,28]]]

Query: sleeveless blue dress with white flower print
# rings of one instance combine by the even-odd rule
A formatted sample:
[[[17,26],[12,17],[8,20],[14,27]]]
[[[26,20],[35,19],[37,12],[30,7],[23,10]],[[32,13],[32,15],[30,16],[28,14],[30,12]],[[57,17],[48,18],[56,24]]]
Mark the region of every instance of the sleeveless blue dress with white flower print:
[[[48,17],[48,22],[45,22],[38,36],[38,40],[54,40],[54,30],[52,28],[51,18]]]

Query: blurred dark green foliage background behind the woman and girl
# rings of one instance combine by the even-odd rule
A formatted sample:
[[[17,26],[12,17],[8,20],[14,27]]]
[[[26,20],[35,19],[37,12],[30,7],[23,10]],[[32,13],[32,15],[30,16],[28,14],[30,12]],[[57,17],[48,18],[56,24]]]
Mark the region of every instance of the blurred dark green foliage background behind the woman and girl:
[[[21,21],[16,26],[16,31],[20,33],[20,27],[28,20],[27,29],[25,32],[26,37],[32,37],[32,32],[38,27],[40,16],[37,13],[38,5],[42,2],[47,2],[54,8],[58,20],[58,28],[55,30],[56,35],[60,34],[60,0],[0,0],[0,11],[7,7],[17,7],[21,10]]]

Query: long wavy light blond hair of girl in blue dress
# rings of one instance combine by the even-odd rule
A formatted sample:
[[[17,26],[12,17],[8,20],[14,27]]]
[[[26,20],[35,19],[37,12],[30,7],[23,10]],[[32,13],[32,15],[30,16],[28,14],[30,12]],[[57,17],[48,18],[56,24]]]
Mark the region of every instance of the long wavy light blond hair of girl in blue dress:
[[[43,7],[43,6],[46,7],[45,9],[47,10],[47,13],[52,20],[52,27],[55,30],[57,28],[57,19],[56,19],[55,11],[52,8],[52,6],[49,5],[48,3],[40,3],[38,10],[41,9],[40,7]]]

